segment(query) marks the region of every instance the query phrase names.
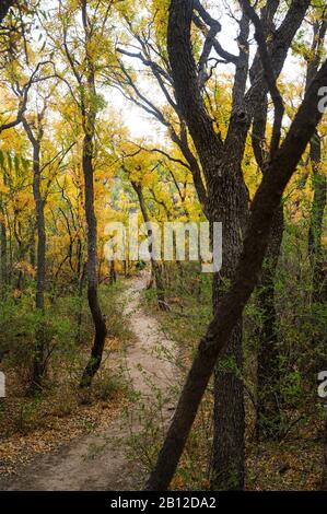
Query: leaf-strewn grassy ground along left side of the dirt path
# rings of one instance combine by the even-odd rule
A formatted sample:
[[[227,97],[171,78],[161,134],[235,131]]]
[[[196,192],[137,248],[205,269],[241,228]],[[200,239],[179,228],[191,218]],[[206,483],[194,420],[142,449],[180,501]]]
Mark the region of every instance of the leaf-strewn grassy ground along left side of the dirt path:
[[[7,398],[0,400],[0,472],[11,474],[36,453],[54,449],[63,442],[78,437],[110,417],[109,411],[121,409],[128,402],[128,385],[121,377],[118,357],[132,341],[133,335],[124,316],[122,281],[100,290],[103,311],[107,317],[108,337],[104,349],[102,367],[92,387],[78,387],[81,373],[90,355],[93,329],[91,317],[83,302],[81,334],[75,339],[74,299],[59,297],[51,306],[55,323],[62,320],[68,329],[54,337],[55,344],[42,393],[26,396],[27,373],[21,373],[22,351],[10,353],[2,362],[7,376]],[[10,320],[5,323],[9,325]],[[13,322],[12,322],[13,324]],[[27,330],[28,331],[28,330]],[[9,334],[13,347],[22,344],[14,332]],[[30,340],[25,341],[28,344]],[[32,341],[33,342],[33,341]],[[28,352],[25,352],[28,354]],[[24,370],[28,366],[25,355]]]

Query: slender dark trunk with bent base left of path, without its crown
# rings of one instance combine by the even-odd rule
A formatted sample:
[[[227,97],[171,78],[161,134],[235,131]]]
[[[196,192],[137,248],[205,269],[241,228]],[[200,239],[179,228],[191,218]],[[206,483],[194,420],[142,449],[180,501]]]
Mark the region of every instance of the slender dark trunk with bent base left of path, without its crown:
[[[97,229],[94,211],[94,183],[93,183],[93,130],[86,132],[83,140],[83,174],[84,174],[84,195],[85,195],[85,217],[87,225],[87,301],[92,319],[94,324],[94,341],[91,350],[90,360],[83,372],[80,386],[89,387],[92,378],[100,369],[107,327],[105,316],[100,306],[97,294]]]

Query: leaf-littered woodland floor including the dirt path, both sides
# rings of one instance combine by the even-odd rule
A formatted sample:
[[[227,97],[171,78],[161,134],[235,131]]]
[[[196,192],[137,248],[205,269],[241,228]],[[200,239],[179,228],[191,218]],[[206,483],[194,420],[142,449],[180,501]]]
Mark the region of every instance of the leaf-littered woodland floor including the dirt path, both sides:
[[[124,281],[121,323],[130,327],[130,336],[124,348],[114,339],[108,340],[105,348],[102,370],[114,381],[116,376],[121,379],[117,392],[105,400],[95,398],[90,404],[77,402],[72,412],[67,408],[69,396],[65,390],[59,390],[62,412],[55,404],[51,413],[52,407],[48,407],[49,401],[45,397],[48,412],[44,419],[38,414],[35,429],[26,433],[12,431],[9,436],[0,437],[0,490],[142,488],[145,469],[151,467],[151,459],[162,441],[162,428],[173,412],[180,382],[180,363],[185,360],[184,364],[188,366],[189,351],[182,341],[187,341],[188,347],[191,344],[190,319],[197,320],[199,334],[206,324],[206,316],[203,320],[197,317],[203,315],[197,301],[194,309],[184,305],[188,314],[182,309],[183,316],[176,315],[176,309],[182,306],[173,297],[170,299],[173,309],[168,313],[154,309],[153,302],[145,301],[152,294],[151,291],[145,292],[148,280],[149,277],[142,274]],[[195,341],[199,334],[194,334]],[[196,432],[188,442],[189,452],[186,451],[182,462],[183,472],[175,477],[173,489],[184,490],[186,483],[190,489],[209,488],[206,456],[211,440],[208,435],[206,441],[206,434],[211,425],[211,414],[208,417],[212,411],[210,394],[206,401],[196,422]],[[11,407],[17,410],[16,404],[10,404]],[[294,416],[296,418],[297,413]],[[44,423],[39,425],[39,421]],[[320,420],[303,420],[294,424],[281,442],[269,444],[256,443],[250,436],[252,419],[247,424],[246,489],[319,488],[323,456]],[[190,458],[192,454],[196,455],[195,460]],[[203,462],[199,455],[203,456]]]

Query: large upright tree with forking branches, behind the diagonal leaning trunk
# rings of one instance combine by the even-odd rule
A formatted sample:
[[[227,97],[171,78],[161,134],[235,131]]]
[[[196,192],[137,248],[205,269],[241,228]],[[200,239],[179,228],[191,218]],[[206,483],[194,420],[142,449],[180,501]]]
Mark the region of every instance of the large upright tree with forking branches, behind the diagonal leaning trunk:
[[[237,258],[243,246],[249,213],[249,198],[242,164],[252,122],[256,114],[261,110],[269,87],[258,50],[252,65],[249,63],[249,22],[246,13],[243,12],[238,17],[234,16],[238,26],[238,55],[234,55],[226,51],[217,39],[217,35],[222,30],[220,22],[214,20],[198,0],[189,2],[189,9],[192,12],[191,20],[200,31],[200,36],[198,33],[194,36],[194,46],[190,49],[187,38],[182,34],[180,20],[176,17],[176,34],[168,27],[168,36],[170,34],[176,36],[175,40],[168,37],[168,60],[162,35],[163,27],[165,27],[165,8],[160,5],[159,2],[152,2],[151,7],[145,7],[152,16],[149,17],[149,27],[157,26],[153,30],[153,35],[151,28],[143,30],[143,23],[138,22],[137,15],[129,15],[126,10],[124,11],[122,19],[128,26],[128,33],[133,35],[135,40],[132,50],[119,46],[117,51],[141,61],[147,72],[151,72],[160,86],[166,105],[157,105],[159,102],[155,104],[152,97],[150,98],[147,93],[142,92],[142,84],[137,82],[135,73],[121,59],[118,60],[121,72],[119,74],[116,72],[114,79],[116,77],[117,87],[128,100],[167,128],[172,141],[183,155],[182,162],[192,173],[203,212],[209,221],[219,220],[223,223],[223,269],[213,279],[213,308],[215,309],[226,284],[235,273]],[[267,2],[260,12],[261,23],[267,31],[268,52],[276,77],[283,68],[288,50],[308,5],[307,0],[291,2],[278,28],[273,24],[278,2]],[[171,27],[172,25],[173,22]],[[179,28],[178,34],[177,28]],[[195,31],[192,31],[194,34]],[[139,51],[135,51],[136,45]],[[214,57],[211,57],[212,52]],[[212,108],[218,89],[214,80],[219,65],[231,65],[235,69],[232,105],[230,113],[225,116],[219,116],[217,109]],[[252,86],[246,90],[248,79],[252,81]],[[211,96],[210,92],[212,92]],[[267,309],[271,312],[269,296],[266,303]],[[215,374],[212,487],[218,489],[221,487],[242,488],[243,486],[242,374],[242,320],[240,320]]]

